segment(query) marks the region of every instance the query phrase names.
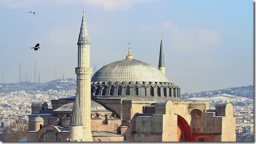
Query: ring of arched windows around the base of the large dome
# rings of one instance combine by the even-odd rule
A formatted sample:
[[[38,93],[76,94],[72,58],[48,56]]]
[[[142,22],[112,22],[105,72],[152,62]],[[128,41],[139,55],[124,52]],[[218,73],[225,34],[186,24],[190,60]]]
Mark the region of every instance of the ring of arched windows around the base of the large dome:
[[[180,97],[180,88],[168,87],[95,87],[92,86],[93,96],[159,96],[159,97]]]

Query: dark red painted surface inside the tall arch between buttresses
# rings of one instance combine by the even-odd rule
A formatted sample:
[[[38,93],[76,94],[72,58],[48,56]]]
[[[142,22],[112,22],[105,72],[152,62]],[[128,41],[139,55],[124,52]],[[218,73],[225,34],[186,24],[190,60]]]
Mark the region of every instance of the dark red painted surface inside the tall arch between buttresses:
[[[192,142],[192,134],[186,119],[184,119],[182,116],[177,115],[177,126],[179,127],[178,129],[181,129],[181,133],[184,135],[185,141]],[[179,137],[180,136],[181,135],[179,135]]]

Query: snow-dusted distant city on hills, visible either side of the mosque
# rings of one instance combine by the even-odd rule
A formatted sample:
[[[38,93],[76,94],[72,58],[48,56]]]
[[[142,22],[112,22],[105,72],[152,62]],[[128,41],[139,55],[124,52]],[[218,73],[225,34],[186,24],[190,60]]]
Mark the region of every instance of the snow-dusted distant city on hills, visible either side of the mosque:
[[[37,84],[40,85],[42,90],[35,90],[36,88],[33,87],[35,83],[33,82],[0,84],[0,90],[5,90],[5,92],[0,93],[0,99],[2,101],[0,105],[1,133],[5,127],[8,127],[12,123],[27,125],[28,114],[32,112],[31,105],[33,102],[45,101],[51,107],[50,100],[75,95],[76,82],[74,78],[58,79]],[[45,85],[48,85],[49,88],[43,89]],[[233,95],[227,94],[232,92]],[[210,109],[215,108],[216,103],[230,101],[234,104],[237,142],[254,142],[254,87],[252,85],[216,91],[182,93],[181,95],[182,98],[189,98],[190,100],[208,100],[211,102]]]

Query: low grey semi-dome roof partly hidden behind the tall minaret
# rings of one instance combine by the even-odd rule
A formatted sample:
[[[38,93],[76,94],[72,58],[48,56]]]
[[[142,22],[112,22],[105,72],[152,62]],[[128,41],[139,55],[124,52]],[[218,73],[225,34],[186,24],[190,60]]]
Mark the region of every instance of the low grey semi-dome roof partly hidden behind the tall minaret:
[[[54,112],[71,112],[74,106],[74,102],[64,104],[58,109],[55,109]],[[101,104],[97,103],[96,101],[91,100],[91,111],[92,112],[110,112]]]

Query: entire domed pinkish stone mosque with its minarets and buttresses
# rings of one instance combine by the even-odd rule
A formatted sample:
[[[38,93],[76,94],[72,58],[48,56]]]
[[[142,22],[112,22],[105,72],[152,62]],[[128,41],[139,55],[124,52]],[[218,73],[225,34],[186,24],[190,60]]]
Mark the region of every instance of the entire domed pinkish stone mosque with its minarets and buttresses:
[[[233,104],[182,99],[165,76],[163,38],[158,69],[133,58],[101,67],[91,78],[83,14],[78,41],[77,95],[32,103],[28,142],[235,142]],[[106,57],[108,58],[106,54]]]

